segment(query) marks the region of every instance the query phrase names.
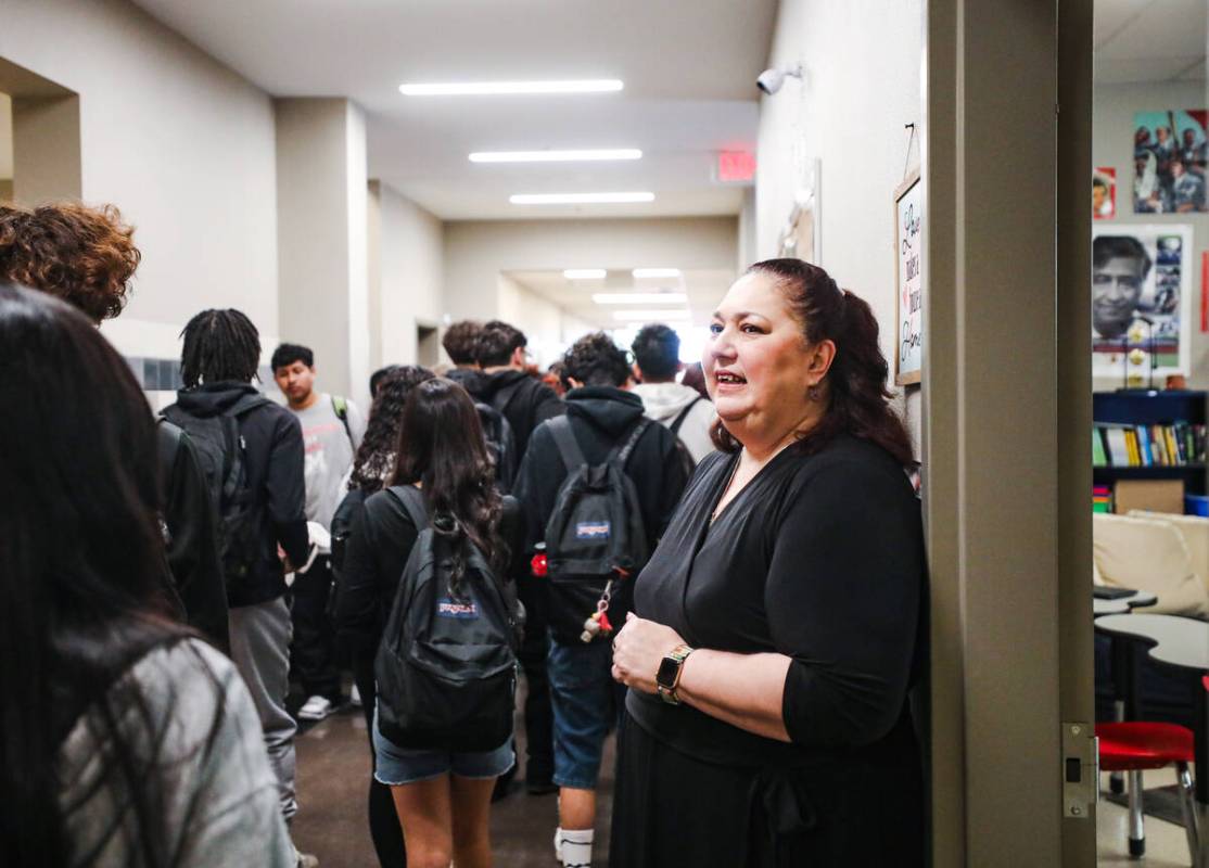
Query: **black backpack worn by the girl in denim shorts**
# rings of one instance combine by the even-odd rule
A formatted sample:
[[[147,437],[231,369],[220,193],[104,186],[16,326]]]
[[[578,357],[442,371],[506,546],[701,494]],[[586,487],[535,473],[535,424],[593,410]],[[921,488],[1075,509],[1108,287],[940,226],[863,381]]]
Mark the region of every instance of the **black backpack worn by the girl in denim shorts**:
[[[494,750],[513,731],[515,608],[473,543],[455,543],[433,527],[420,490],[387,492],[420,537],[374,661],[378,729],[404,748]],[[465,561],[457,592],[450,581],[455,544]]]

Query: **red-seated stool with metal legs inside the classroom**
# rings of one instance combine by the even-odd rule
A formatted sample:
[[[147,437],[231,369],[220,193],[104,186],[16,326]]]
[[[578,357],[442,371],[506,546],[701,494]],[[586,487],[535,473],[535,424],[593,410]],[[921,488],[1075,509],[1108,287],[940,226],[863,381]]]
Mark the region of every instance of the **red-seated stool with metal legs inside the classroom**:
[[[1184,829],[1188,838],[1192,863],[1197,862],[1197,826],[1192,775],[1192,731],[1174,723],[1098,723],[1095,736],[1100,740],[1100,770],[1129,772],[1129,855],[1134,858],[1146,851],[1143,828],[1141,772],[1174,765],[1180,785],[1180,806],[1184,809]]]

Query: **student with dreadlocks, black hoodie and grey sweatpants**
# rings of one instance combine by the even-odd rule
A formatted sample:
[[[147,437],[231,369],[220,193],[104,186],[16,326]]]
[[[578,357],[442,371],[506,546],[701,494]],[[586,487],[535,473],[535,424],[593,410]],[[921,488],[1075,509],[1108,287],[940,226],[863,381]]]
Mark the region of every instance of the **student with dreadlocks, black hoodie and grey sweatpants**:
[[[164,415],[198,444],[218,480],[219,538],[231,606],[231,656],[260,713],[282,814],[294,794],[294,718],[285,711],[290,611],[284,567],[307,557],[302,432],[251,384],[260,335],[239,311],[202,311],[185,326],[185,383]],[[212,481],[213,485],[213,481]],[[301,863],[313,864],[307,857]]]

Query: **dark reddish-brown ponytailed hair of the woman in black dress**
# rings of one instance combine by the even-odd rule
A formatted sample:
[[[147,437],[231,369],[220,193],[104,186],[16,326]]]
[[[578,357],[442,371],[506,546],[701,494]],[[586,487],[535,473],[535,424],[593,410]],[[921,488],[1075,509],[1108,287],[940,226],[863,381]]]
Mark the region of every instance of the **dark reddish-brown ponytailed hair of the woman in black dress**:
[[[878,319],[868,302],[841,290],[826,271],[800,259],[764,260],[745,273],[776,280],[808,343],[835,343],[835,358],[823,384],[827,410],[793,449],[809,455],[840,434],[851,434],[881,446],[903,467],[915,467],[910,435],[890,406],[890,365],[881,354]],[[721,419],[711,434],[715,445],[725,452],[741,447]]]

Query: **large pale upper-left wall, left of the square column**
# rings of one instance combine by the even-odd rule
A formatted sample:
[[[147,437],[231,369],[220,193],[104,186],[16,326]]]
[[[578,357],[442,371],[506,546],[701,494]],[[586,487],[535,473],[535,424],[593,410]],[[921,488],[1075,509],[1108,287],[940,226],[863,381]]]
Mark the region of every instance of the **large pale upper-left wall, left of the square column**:
[[[118,348],[147,353],[202,307],[276,335],[268,97],[121,0],[5,0],[0,57],[80,94],[83,198],[138,226],[125,328],[105,329]]]

